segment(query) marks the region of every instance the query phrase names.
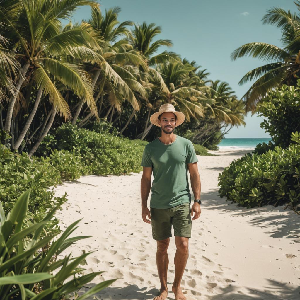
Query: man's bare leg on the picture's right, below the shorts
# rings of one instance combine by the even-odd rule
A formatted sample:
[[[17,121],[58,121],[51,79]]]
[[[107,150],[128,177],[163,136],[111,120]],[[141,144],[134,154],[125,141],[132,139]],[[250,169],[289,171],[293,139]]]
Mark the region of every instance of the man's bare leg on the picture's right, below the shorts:
[[[181,279],[187,264],[188,258],[188,238],[182,236],[175,236],[176,253],[174,257],[175,264],[175,279],[172,286],[172,291],[175,294],[176,300],[186,300],[186,297],[182,294]]]

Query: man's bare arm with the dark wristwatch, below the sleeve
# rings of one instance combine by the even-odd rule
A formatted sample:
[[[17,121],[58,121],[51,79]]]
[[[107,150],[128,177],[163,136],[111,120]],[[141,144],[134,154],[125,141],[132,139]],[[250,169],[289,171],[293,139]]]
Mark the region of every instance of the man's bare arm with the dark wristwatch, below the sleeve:
[[[194,193],[194,198],[200,199],[201,182],[200,182],[200,175],[198,172],[197,163],[187,164],[187,167],[190,172],[190,185],[191,185],[193,193]],[[198,219],[201,214],[200,204],[197,202],[194,202],[194,204],[191,208],[191,215],[193,215],[193,213],[195,213],[195,214],[194,214],[194,217],[192,220]]]

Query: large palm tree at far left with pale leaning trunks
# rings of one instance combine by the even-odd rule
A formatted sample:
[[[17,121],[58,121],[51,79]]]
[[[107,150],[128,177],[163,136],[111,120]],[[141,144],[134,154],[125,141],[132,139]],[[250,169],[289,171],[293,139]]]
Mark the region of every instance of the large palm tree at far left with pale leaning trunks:
[[[17,54],[22,63],[22,70],[21,76],[16,81],[16,90],[19,92],[26,77],[28,82],[31,80],[35,82],[38,95],[33,110],[13,146],[15,149],[19,148],[26,135],[42,95],[48,96],[55,114],[58,112],[65,120],[70,119],[70,109],[56,88],[56,81],[73,90],[97,115],[91,77],[79,65],[70,64],[61,56],[73,47],[83,45],[99,49],[101,42],[98,33],[88,24],[82,23],[80,26],[61,32],[59,21],[59,19],[66,19],[76,8],[82,5],[97,7],[99,4],[96,1],[20,0],[18,3],[19,5],[13,8],[14,13],[5,13],[5,9],[1,9],[0,21],[6,24],[8,28],[6,34],[11,37],[14,44],[22,52]],[[9,10],[7,11],[9,12]],[[27,74],[28,70],[29,74]],[[7,132],[10,131],[16,97],[17,95],[10,100],[8,105],[4,126],[4,130]],[[49,122],[53,122],[53,120],[50,118]]]

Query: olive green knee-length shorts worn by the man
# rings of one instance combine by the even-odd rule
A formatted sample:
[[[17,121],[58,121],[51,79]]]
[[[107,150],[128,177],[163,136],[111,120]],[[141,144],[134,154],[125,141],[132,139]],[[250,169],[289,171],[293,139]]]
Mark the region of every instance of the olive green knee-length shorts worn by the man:
[[[190,217],[190,203],[183,203],[171,208],[150,208],[152,237],[164,240],[172,236],[171,224],[174,235],[190,238],[192,220]]]

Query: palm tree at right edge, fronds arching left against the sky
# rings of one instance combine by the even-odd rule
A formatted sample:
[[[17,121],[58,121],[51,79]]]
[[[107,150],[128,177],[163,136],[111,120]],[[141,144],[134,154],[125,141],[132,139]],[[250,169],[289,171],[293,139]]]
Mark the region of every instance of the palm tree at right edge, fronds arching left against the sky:
[[[294,2],[300,10],[300,2]],[[283,84],[295,85],[300,78],[300,18],[290,10],[273,7],[262,18],[263,24],[276,24],[281,28],[284,47],[280,48],[267,43],[248,43],[235,49],[231,59],[252,55],[263,59],[268,64],[255,68],[245,74],[238,82],[242,85],[257,79],[243,95],[246,112],[254,113],[256,104],[265,97],[266,93]]]

